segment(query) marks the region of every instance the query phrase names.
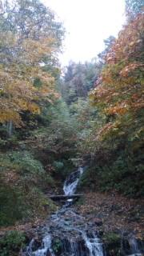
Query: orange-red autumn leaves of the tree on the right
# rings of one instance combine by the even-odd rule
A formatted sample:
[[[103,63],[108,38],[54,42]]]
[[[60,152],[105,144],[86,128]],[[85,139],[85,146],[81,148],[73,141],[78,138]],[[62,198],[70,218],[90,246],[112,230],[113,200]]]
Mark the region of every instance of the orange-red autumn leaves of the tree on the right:
[[[131,127],[131,139],[142,133],[143,26],[143,14],[130,18],[123,26],[106,55],[106,68],[90,94],[105,122],[97,133],[101,139],[121,136]]]

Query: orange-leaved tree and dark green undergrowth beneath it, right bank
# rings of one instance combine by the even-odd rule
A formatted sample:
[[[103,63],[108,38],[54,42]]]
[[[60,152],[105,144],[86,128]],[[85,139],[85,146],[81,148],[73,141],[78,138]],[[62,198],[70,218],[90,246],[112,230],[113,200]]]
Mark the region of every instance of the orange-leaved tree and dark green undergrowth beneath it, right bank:
[[[143,18],[137,14],[128,19],[90,93],[98,112],[95,130],[90,130],[94,163],[81,181],[133,196],[143,194]],[[90,150],[87,140],[85,145],[83,150]]]

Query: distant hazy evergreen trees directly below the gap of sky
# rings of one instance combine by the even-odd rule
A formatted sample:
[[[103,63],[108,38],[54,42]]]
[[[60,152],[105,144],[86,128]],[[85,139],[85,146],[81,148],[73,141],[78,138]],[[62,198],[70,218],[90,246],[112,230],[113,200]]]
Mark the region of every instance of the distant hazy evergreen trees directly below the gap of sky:
[[[99,63],[70,62],[69,66],[66,66],[64,82],[60,86],[62,97],[66,103],[70,105],[77,102],[78,98],[86,98],[87,93],[94,87],[95,77],[99,72]]]

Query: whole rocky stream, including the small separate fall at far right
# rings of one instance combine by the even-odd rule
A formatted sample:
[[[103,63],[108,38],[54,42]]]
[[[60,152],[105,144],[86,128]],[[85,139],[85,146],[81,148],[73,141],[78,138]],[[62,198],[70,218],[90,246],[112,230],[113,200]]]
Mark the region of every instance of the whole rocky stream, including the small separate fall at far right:
[[[80,167],[66,178],[64,194],[71,195],[76,192],[78,180],[85,169]],[[42,229],[42,239],[33,238],[22,256],[114,255],[106,252],[97,226],[93,222],[87,222],[86,217],[72,208],[73,200],[67,199],[61,209],[51,215],[50,221]],[[123,240],[121,255],[142,255],[138,242],[134,238],[130,241]]]

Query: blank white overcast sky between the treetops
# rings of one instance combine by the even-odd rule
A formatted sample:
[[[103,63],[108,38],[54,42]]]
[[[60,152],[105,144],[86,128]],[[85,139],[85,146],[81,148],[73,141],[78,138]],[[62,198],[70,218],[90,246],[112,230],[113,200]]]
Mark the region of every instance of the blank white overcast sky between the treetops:
[[[62,65],[85,62],[104,50],[103,40],[117,36],[124,23],[124,0],[42,0],[66,27]]]

